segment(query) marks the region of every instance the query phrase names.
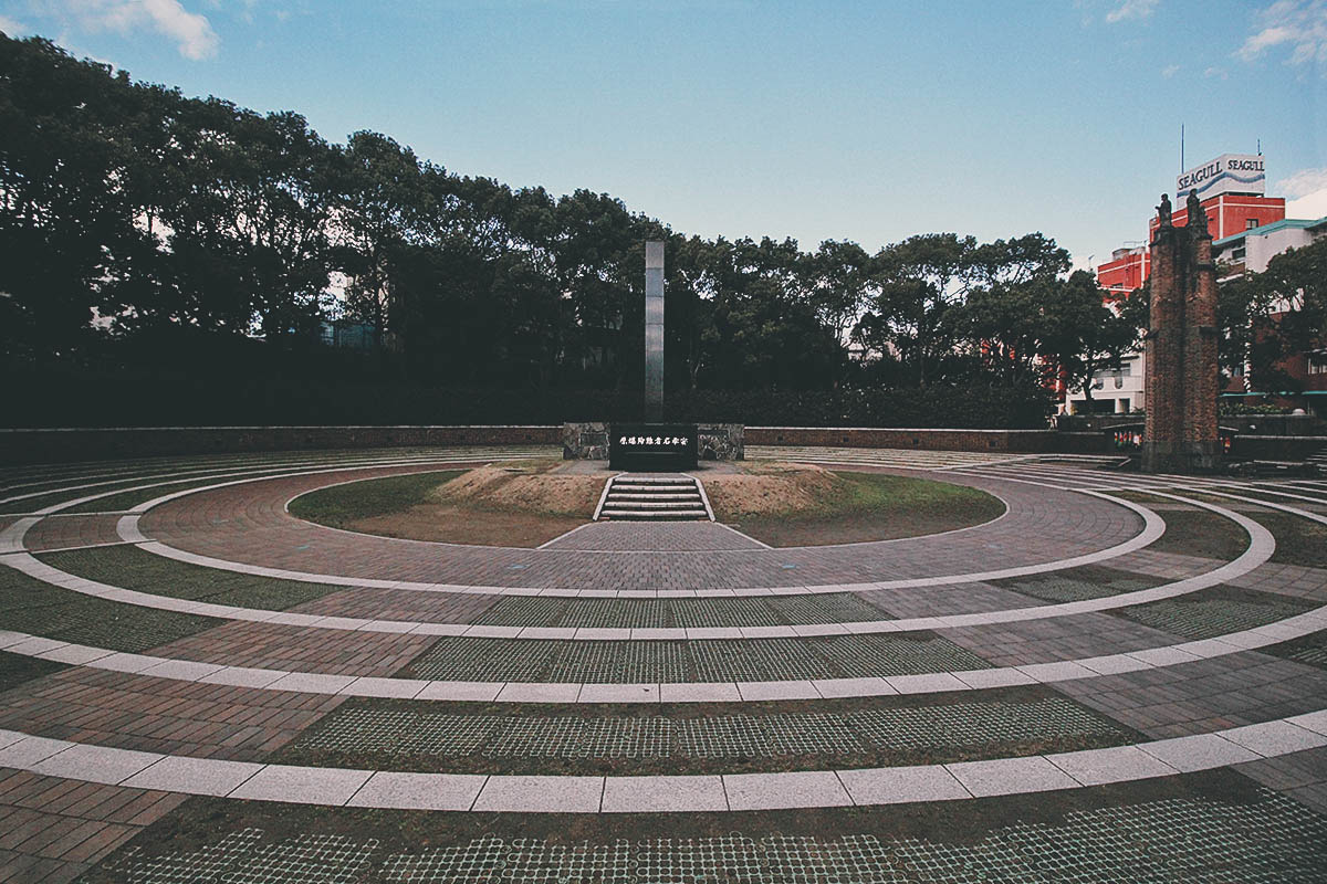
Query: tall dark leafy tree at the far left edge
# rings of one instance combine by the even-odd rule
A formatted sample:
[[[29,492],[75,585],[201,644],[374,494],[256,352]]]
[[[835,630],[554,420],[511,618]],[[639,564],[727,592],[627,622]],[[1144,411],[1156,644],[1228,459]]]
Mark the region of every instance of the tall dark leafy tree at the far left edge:
[[[46,40],[0,34],[0,292],[7,347],[56,355],[153,243],[126,199],[139,168],[122,125],[135,94],[123,74]],[[131,260],[133,258],[133,260]]]

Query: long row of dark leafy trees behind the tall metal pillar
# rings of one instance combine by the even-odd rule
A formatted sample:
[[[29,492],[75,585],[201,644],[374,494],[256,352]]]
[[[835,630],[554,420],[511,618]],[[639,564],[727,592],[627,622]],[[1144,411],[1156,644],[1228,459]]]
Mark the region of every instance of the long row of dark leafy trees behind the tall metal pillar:
[[[667,380],[698,390],[1042,390],[1136,327],[1031,233],[978,243],[683,236],[621,200],[514,190],[391,138],[134,82],[0,34],[0,337],[33,364],[366,323],[357,371],[417,384],[638,388],[644,241],[666,240]],[[127,357],[126,357],[127,358]],[[167,357],[161,357],[167,358]]]

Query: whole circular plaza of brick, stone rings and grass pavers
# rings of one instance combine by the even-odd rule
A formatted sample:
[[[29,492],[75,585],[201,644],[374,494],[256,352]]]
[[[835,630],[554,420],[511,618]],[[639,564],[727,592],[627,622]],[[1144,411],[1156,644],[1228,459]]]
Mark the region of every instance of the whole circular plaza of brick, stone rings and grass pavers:
[[[1327,881],[1327,481],[748,449],[994,521],[300,521],[551,455],[0,470],[0,881]]]

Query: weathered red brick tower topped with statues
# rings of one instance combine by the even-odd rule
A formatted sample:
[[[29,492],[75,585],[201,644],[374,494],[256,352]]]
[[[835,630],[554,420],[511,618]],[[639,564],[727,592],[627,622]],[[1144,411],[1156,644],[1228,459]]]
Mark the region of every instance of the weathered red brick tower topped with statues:
[[[1170,221],[1161,195],[1152,237],[1152,313],[1147,338],[1143,469],[1204,473],[1221,465],[1217,437],[1217,276],[1212,233],[1189,191],[1188,224]]]

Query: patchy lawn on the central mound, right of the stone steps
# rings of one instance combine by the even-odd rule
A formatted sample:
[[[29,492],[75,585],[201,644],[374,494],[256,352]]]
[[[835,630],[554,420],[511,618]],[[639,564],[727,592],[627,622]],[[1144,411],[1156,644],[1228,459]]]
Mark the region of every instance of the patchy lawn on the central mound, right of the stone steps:
[[[1005,504],[986,492],[926,478],[833,470],[832,494],[774,516],[715,505],[715,520],[770,546],[886,541],[971,527],[998,518]]]

